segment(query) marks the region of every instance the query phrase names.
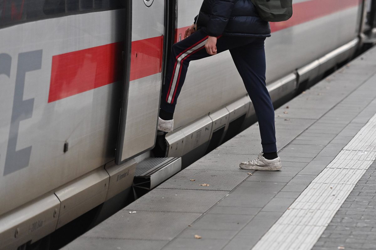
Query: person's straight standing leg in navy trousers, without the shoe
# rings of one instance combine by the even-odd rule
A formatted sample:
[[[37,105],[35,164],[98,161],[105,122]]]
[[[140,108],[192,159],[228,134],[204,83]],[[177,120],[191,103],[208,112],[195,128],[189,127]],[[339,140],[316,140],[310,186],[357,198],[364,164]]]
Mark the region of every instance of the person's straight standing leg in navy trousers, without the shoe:
[[[264,38],[254,38],[247,45],[230,49],[230,53],[256,111],[262,151],[264,155],[269,153],[276,156],[274,108],[265,84],[264,40]]]

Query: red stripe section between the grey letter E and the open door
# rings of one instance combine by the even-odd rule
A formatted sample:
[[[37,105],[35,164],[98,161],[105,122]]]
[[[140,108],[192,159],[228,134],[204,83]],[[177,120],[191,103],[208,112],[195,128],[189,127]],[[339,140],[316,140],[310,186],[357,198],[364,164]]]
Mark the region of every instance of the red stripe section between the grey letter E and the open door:
[[[52,57],[48,102],[54,102],[121,79],[123,42]]]

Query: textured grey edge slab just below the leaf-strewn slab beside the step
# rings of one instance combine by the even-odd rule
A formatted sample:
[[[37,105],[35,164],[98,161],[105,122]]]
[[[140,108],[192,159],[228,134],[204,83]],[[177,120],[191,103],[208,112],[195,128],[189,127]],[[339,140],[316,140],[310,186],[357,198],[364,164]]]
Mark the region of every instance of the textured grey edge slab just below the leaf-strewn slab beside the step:
[[[130,211],[205,213],[228,193],[227,191],[158,188],[126,208]]]

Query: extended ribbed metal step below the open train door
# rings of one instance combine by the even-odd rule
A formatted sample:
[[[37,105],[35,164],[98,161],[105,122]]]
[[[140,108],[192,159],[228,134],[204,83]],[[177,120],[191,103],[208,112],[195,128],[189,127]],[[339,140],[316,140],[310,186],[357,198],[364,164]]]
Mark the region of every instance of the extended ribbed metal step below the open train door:
[[[136,166],[133,187],[150,190],[167,180],[182,168],[182,159],[176,157],[150,157]]]

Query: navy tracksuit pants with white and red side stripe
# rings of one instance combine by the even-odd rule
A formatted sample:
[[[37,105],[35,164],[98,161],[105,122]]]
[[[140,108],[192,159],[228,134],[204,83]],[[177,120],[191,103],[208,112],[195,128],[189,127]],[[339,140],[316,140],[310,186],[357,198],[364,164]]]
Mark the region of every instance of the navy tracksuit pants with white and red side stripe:
[[[211,56],[205,49],[207,39],[208,35],[204,31],[197,30],[172,46],[166,81],[162,87],[161,109],[164,111],[174,112],[190,61]],[[230,51],[256,111],[262,150],[264,153],[271,153],[276,152],[277,147],[274,108],[265,84],[264,41],[264,37],[220,36],[217,40],[217,53]]]

